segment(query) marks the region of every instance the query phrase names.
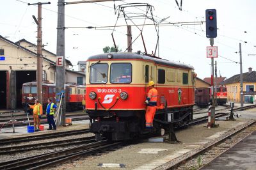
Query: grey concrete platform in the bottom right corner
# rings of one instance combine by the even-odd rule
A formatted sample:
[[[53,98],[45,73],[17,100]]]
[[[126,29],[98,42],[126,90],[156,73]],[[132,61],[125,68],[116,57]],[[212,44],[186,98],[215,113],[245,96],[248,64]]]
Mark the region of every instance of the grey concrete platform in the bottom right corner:
[[[255,141],[256,132],[253,132],[246,139],[236,144],[202,169],[256,169]]]

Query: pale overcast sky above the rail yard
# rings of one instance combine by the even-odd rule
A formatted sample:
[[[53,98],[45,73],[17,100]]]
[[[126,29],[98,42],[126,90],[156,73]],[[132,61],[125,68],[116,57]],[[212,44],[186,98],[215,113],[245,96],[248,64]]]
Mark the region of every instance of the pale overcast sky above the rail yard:
[[[70,2],[72,0],[67,0]],[[76,0],[78,1],[78,0]],[[0,35],[17,42],[25,38],[36,43],[36,24],[31,17],[37,17],[37,6],[28,6],[27,3],[37,3],[35,0],[8,0],[1,1]],[[48,1],[41,1],[42,3]],[[44,4],[42,9],[42,31],[45,49],[56,54],[57,38],[57,0],[51,4]],[[180,3],[180,0],[178,0]],[[232,77],[239,70],[239,43],[242,45],[243,72],[248,67],[256,70],[256,1],[253,0],[183,0],[182,11],[179,10],[175,0],[150,1],[115,1],[115,6],[127,3],[148,3],[154,6],[154,19],[159,21],[166,17],[162,23],[167,22],[195,22],[205,20],[205,10],[215,8],[218,16],[218,36],[214,38],[214,46],[218,46],[218,76]],[[112,46],[111,33],[118,17],[115,14],[113,2],[70,4],[65,6],[65,27],[99,27],[97,29],[65,29],[65,57],[77,69],[77,61],[85,61],[89,56],[101,54],[105,46]],[[127,8],[127,12],[145,13],[138,8]],[[139,20],[134,20],[139,23]],[[152,24],[147,20],[148,24]],[[117,25],[125,24],[124,18],[118,19]],[[133,40],[140,32],[132,27]],[[116,27],[113,35],[116,44],[123,51],[127,48],[127,30],[125,27]],[[143,37],[147,52],[152,53],[156,46],[156,29],[154,26],[143,28]],[[211,76],[211,59],[206,58],[206,47],[209,40],[205,36],[205,24],[159,27],[159,56],[171,61],[179,61],[194,66],[198,77]],[[247,43],[245,43],[247,42]],[[144,52],[141,38],[132,45],[133,52]],[[157,52],[158,55],[158,52]],[[235,63],[236,61],[237,63]]]

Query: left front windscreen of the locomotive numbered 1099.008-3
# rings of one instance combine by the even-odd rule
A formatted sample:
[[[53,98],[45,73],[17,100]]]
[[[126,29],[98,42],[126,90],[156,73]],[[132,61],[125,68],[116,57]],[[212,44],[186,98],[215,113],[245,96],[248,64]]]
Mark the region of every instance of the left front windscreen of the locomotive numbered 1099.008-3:
[[[108,81],[108,64],[99,63],[91,65],[90,83],[106,83]]]

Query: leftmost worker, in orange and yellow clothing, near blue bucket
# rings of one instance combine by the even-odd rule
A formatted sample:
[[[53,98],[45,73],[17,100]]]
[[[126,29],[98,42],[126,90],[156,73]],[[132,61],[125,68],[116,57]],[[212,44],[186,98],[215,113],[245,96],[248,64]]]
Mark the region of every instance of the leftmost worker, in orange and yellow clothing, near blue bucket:
[[[33,118],[34,118],[34,128],[35,132],[40,131],[40,118],[43,114],[43,107],[39,103],[38,99],[35,100],[34,105],[29,105],[31,109],[33,109]]]

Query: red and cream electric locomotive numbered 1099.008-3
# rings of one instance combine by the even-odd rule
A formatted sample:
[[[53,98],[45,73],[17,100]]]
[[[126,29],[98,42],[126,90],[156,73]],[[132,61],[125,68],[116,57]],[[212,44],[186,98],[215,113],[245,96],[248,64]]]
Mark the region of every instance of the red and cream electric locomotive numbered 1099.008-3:
[[[130,52],[88,58],[86,112],[96,139],[133,139],[145,131],[147,83],[155,82],[157,105],[153,131],[193,119],[193,66]]]

